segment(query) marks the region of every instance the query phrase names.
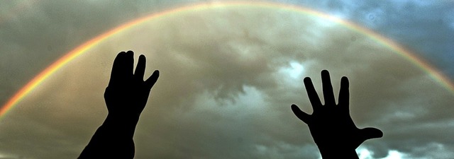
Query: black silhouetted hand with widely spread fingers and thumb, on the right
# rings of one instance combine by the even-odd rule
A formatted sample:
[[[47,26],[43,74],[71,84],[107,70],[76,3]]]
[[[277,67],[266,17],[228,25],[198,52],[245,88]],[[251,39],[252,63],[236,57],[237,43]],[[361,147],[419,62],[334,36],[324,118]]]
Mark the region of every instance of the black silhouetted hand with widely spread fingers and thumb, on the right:
[[[314,112],[307,114],[292,105],[292,111],[309,126],[322,158],[358,158],[355,149],[367,139],[380,138],[382,131],[375,128],[358,129],[350,117],[348,78],[341,78],[339,102],[336,105],[328,71],[321,71],[324,105],[321,104],[311,78],[304,78],[304,86]]]

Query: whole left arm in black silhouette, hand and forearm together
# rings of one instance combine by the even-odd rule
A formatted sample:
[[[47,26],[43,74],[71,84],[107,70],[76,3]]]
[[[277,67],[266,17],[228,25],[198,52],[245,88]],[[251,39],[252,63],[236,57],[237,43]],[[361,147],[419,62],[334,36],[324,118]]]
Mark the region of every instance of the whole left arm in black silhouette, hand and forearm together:
[[[79,158],[134,158],[134,131],[159,71],[143,81],[145,56],[140,55],[133,73],[133,52],[120,52],[104,92],[109,114]]]

